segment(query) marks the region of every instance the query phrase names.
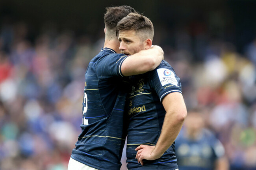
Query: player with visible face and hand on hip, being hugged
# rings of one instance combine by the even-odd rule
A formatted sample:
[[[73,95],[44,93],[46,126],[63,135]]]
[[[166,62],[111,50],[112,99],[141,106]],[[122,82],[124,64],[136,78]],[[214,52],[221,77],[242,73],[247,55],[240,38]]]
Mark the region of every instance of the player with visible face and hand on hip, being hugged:
[[[152,22],[130,13],[117,24],[121,53],[133,55],[150,49]],[[176,170],[174,140],[186,118],[180,78],[166,62],[145,74],[132,76],[127,99],[129,116],[127,167],[129,170]]]

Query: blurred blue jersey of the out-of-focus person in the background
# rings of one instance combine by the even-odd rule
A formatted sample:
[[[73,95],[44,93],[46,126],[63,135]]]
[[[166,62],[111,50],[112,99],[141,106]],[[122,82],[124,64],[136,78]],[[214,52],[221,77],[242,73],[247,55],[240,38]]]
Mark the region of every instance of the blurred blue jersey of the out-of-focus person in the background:
[[[176,139],[175,152],[179,170],[214,170],[215,161],[224,155],[224,147],[206,129],[195,140],[188,139],[181,131]]]

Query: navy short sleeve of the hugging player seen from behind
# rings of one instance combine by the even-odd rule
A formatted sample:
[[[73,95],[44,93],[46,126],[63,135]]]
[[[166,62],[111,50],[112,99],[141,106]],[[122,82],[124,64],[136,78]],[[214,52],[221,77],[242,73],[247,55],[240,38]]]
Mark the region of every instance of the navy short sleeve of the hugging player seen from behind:
[[[121,65],[124,59],[128,57],[124,54],[109,54],[102,57],[100,60],[95,63],[96,72],[99,77],[109,77],[109,76],[121,76]]]

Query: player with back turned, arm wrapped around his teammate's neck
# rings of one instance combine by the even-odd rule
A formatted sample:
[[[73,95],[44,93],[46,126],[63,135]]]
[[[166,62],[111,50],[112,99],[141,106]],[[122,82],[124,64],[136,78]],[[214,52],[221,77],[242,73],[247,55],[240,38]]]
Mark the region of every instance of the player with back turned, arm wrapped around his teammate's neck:
[[[120,169],[127,129],[123,121],[127,96],[124,76],[154,70],[163,59],[159,46],[130,56],[117,54],[117,22],[135,10],[129,6],[106,9],[104,47],[85,73],[82,133],[72,150],[68,170]]]

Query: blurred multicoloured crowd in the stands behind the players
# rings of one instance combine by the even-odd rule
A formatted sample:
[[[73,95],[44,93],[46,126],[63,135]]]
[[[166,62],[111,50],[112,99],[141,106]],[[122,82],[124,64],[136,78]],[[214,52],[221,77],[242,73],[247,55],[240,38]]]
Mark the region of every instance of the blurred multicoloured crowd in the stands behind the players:
[[[65,170],[80,134],[84,74],[104,35],[50,24],[38,32],[30,39],[26,23],[1,23],[0,170]],[[230,169],[256,169],[256,39],[238,53],[186,29],[169,35],[173,44],[166,34],[155,30],[155,43],[181,79],[188,111],[203,111]]]

